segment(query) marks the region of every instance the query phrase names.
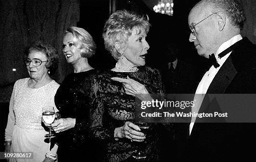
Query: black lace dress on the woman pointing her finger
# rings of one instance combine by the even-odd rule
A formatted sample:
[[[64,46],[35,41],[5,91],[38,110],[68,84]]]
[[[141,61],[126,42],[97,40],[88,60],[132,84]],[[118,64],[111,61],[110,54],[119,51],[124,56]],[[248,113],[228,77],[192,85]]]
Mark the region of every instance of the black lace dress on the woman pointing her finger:
[[[125,93],[122,83],[111,80],[112,77],[127,76],[143,84],[149,93],[163,94],[158,70],[147,66],[140,67],[139,71],[132,73],[109,70],[93,79],[89,136],[95,143],[101,144],[99,148],[105,149],[105,162],[132,162],[131,155],[141,143],[131,142],[127,138],[114,138],[115,128],[123,126],[127,121],[134,123],[135,97]],[[147,153],[148,162],[158,162],[159,159],[157,133],[158,131],[153,128],[146,136],[144,151]]]

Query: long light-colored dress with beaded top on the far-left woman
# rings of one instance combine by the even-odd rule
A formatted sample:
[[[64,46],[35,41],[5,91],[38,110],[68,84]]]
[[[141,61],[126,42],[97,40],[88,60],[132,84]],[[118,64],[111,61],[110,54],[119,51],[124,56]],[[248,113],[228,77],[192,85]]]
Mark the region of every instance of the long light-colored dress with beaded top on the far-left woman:
[[[5,139],[12,140],[11,152],[33,152],[33,159],[10,159],[10,162],[42,162],[45,153],[56,154],[58,146],[50,149],[45,137],[49,129],[42,126],[42,108],[53,106],[55,93],[60,86],[54,80],[43,87],[29,88],[29,78],[19,79],[13,87],[10,100]]]

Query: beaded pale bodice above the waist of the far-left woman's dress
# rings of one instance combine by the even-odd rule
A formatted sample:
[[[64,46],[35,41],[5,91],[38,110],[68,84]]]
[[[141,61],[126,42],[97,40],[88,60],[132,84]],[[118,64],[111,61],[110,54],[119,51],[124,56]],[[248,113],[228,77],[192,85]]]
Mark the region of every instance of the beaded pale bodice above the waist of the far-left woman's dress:
[[[14,84],[15,125],[24,129],[44,129],[41,125],[42,108],[51,105],[59,84],[52,80],[39,88],[27,86],[29,78],[19,79]]]

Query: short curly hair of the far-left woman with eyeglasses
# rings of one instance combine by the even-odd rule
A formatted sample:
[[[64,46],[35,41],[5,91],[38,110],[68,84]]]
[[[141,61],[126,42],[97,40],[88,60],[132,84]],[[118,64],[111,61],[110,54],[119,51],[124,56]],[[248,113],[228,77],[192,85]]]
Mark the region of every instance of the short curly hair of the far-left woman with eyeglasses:
[[[50,75],[54,74],[59,66],[59,55],[57,50],[50,44],[36,41],[26,49],[25,57],[27,57],[32,50],[40,51],[46,55],[48,62],[45,64],[45,67],[50,71]]]

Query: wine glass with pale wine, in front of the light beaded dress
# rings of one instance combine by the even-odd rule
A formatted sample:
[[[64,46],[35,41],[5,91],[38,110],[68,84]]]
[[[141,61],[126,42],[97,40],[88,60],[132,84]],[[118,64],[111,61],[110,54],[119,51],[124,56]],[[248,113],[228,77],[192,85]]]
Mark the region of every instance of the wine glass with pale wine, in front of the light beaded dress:
[[[54,107],[52,106],[43,107],[43,120],[45,123],[51,125],[55,119],[54,114],[55,114]],[[49,134],[46,134],[44,137],[46,138],[55,137],[55,135],[51,133],[51,126],[49,127]]]

